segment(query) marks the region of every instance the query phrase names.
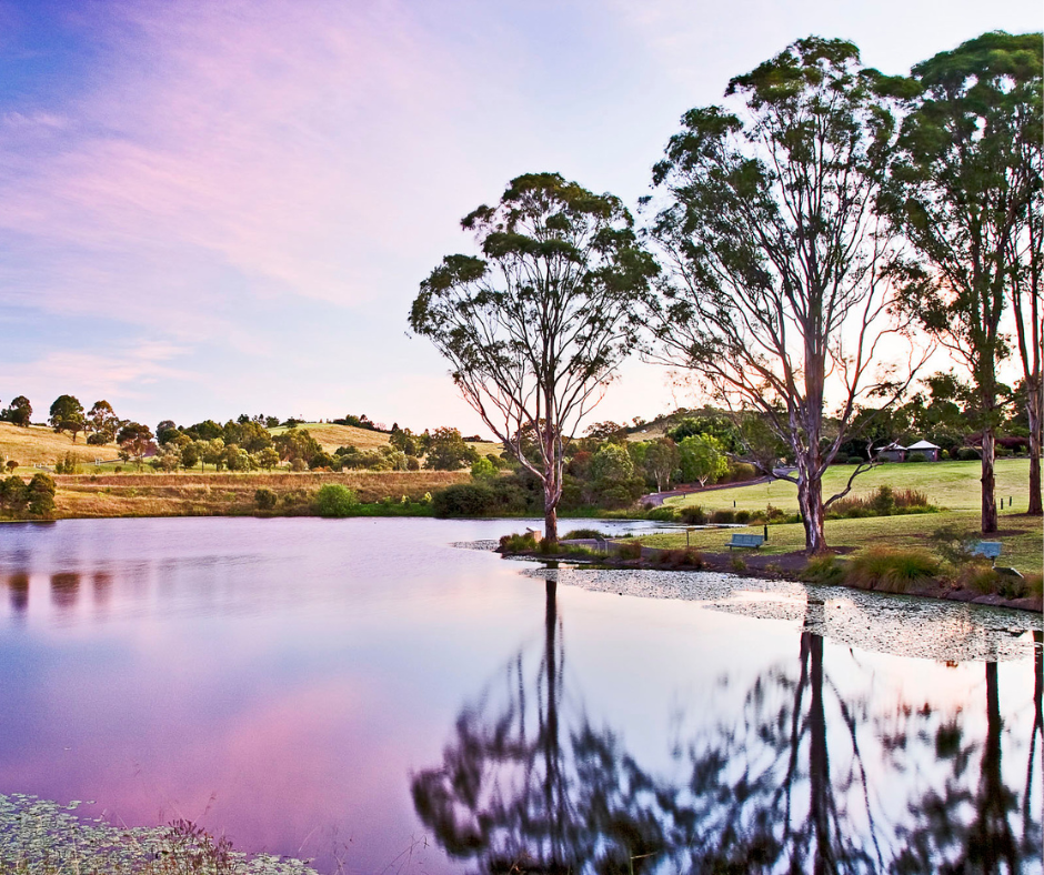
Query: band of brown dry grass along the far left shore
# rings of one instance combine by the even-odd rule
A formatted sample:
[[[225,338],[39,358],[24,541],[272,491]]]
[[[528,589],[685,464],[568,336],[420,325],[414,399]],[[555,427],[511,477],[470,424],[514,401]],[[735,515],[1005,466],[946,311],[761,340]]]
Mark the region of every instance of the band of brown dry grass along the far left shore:
[[[57,516],[227,516],[257,511],[254,492],[279,495],[279,511],[304,512],[324,483],[348,486],[363,503],[411,501],[470,479],[466,471],[353,471],[279,474],[100,474],[56,476]]]

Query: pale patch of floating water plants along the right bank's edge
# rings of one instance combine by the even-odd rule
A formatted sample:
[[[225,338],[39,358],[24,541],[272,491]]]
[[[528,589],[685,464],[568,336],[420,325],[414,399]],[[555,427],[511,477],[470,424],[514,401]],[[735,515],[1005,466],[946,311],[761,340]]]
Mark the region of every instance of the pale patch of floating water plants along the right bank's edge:
[[[1008,661],[1032,656],[1040,617],[1023,611],[769,581],[721,572],[533,569],[524,574],[592,592],[680,599],[714,611],[803,624],[866,651],[927,660]]]

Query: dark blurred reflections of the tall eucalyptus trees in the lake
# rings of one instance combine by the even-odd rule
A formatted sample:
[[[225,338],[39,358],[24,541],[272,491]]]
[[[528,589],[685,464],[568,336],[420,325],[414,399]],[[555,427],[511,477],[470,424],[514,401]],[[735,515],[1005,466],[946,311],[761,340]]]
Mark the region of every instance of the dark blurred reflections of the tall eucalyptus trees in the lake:
[[[757,677],[741,717],[697,732],[680,754],[682,777],[666,780],[642,768],[582,710],[563,725],[555,586],[546,581],[535,676],[526,675],[520,653],[508,671],[506,704],[493,705],[486,694],[465,708],[441,767],[412,778],[416,813],[451,857],[490,873],[961,873],[1040,865],[1038,633],[1024,792],[1003,782],[997,671],[988,663],[983,744],[965,740],[960,711],[945,720],[930,708],[906,715],[920,725],[895,736],[902,750],[891,751],[891,765],[907,770],[931,757],[945,761],[950,774],[942,789],[904,811],[875,801],[880,794],[869,786],[859,732],[872,726],[869,703],[846,700],[826,672],[823,638],[807,630],[822,605],[809,605],[796,676],[775,668]],[[829,708],[843,732],[829,731]],[[843,765],[832,772],[830,747],[842,740],[846,750],[834,753]],[[977,788],[970,788],[977,746]],[[887,781],[883,764],[875,763],[877,782]]]

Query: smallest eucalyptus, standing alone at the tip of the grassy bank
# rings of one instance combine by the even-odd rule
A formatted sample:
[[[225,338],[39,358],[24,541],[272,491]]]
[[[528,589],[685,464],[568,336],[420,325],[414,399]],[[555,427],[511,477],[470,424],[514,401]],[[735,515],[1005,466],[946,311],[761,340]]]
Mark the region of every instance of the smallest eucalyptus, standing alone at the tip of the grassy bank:
[[[421,283],[410,325],[540,479],[544,536],[556,541],[569,440],[638,342],[632,312],[655,262],[618,198],[558,173],[518,177],[461,224],[481,255],[445,257]]]

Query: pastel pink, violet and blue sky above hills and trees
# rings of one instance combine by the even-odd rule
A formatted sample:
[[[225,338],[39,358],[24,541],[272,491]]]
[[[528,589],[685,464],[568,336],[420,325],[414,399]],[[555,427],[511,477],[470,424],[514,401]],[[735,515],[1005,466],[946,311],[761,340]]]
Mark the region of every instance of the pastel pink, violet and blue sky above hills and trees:
[[[812,33],[905,72],[1038,0],[0,0],[0,403],[489,434],[406,332],[524,172],[634,208],[679,118]],[[697,400],[631,362],[596,419]]]

